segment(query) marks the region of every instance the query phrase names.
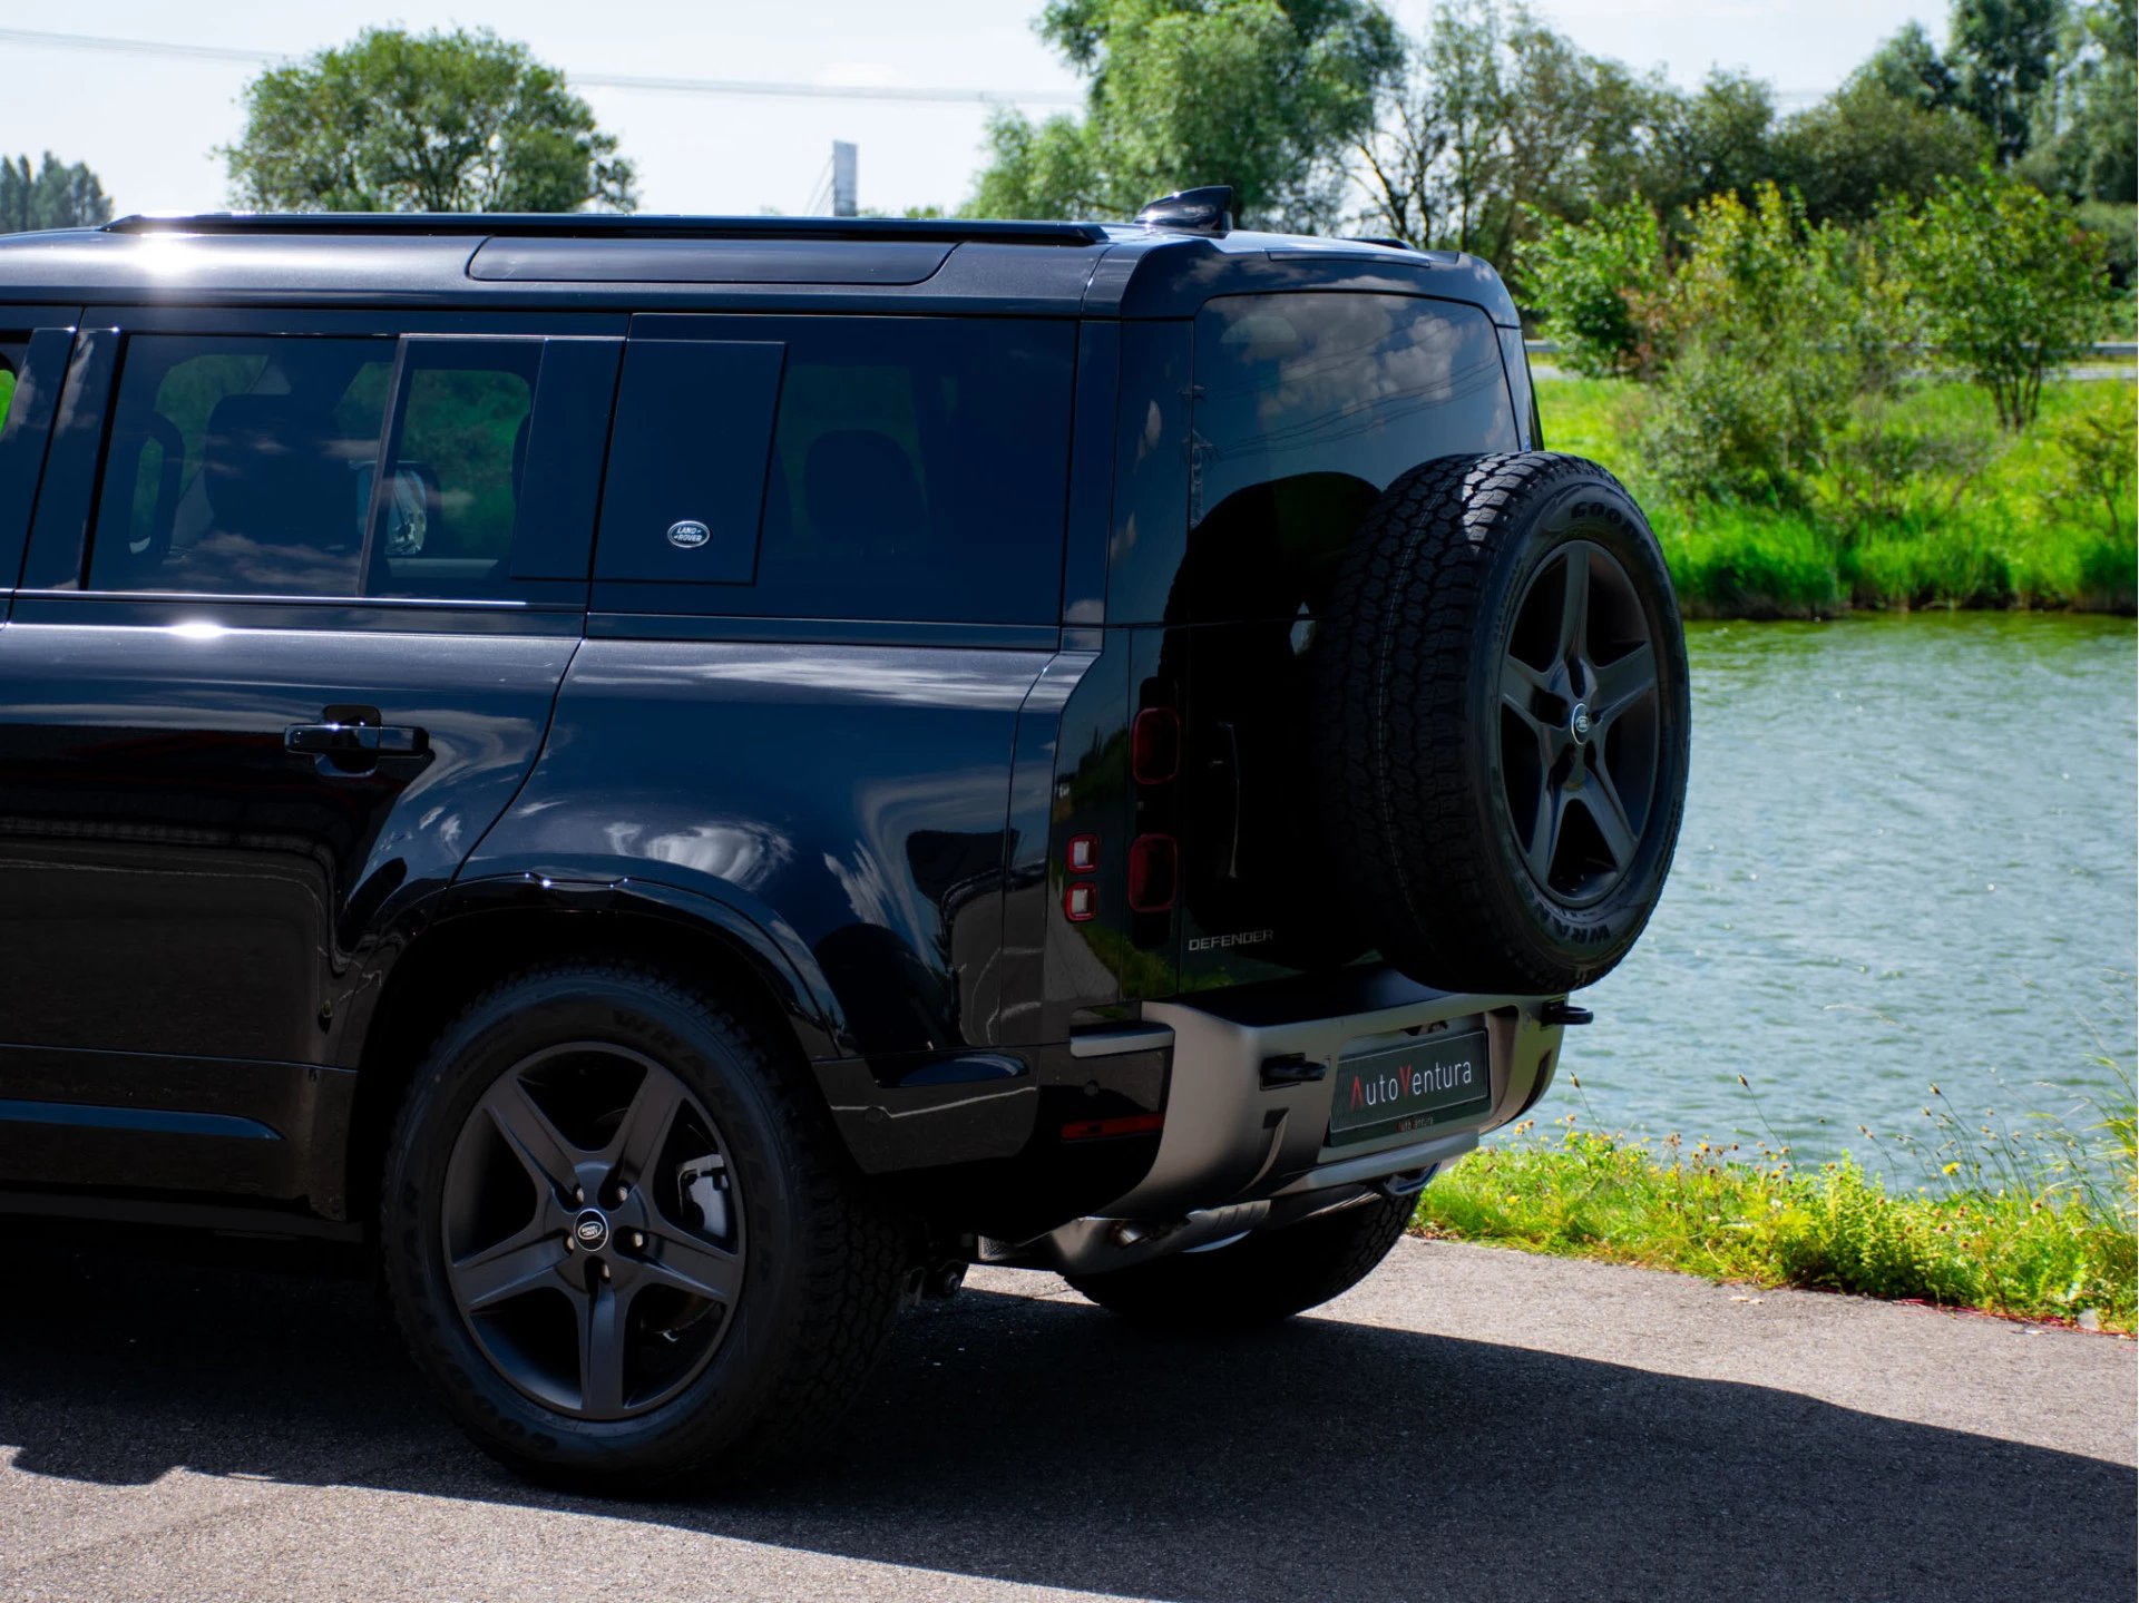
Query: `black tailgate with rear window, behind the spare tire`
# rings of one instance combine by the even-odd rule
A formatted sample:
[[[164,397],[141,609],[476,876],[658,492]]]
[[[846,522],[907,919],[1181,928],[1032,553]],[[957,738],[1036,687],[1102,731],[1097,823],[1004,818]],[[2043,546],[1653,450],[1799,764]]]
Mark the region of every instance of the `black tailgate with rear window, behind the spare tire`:
[[[1499,330],[1418,295],[1224,295],[1196,317],[1189,531],[1147,685],[1185,717],[1187,989],[1365,952],[1313,839],[1315,636],[1403,471],[1521,449]]]

